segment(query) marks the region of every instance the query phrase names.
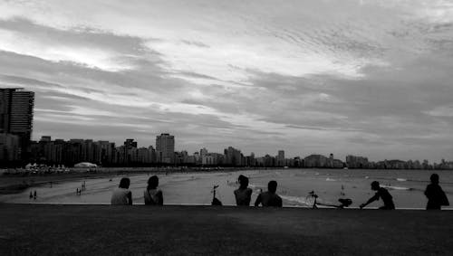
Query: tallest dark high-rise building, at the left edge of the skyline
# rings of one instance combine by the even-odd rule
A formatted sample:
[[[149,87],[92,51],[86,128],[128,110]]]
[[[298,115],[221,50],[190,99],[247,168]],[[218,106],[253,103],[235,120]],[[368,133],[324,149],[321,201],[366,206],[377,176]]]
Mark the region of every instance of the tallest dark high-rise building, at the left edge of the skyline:
[[[21,158],[28,157],[33,129],[34,92],[0,89],[0,133],[19,137]]]

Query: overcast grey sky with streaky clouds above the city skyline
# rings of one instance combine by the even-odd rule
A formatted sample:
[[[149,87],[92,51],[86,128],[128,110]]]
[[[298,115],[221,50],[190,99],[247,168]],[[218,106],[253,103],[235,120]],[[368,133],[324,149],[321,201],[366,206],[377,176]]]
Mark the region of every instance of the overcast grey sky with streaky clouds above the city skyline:
[[[453,160],[453,1],[0,3],[34,139]]]

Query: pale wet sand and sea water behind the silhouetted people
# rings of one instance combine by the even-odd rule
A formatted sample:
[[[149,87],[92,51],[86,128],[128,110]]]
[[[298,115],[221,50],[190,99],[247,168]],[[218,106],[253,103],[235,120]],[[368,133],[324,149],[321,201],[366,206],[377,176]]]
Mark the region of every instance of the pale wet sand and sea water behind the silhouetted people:
[[[435,171],[440,176],[440,185],[453,204],[453,171]],[[267,183],[278,183],[277,194],[284,199],[284,206],[311,206],[314,191],[318,202],[338,204],[339,198],[351,198],[351,207],[366,202],[374,192],[371,182],[376,180],[389,189],[397,208],[424,208],[427,199],[423,194],[433,171],[424,170],[359,170],[359,169],[273,169],[248,170],[230,173],[175,173],[159,175],[159,188],[164,194],[164,204],[210,204],[212,187],[218,185],[217,198],[223,204],[235,205],[233,191],[238,187],[238,175],[246,175],[253,189],[252,204]],[[76,180],[64,183],[41,185],[21,194],[0,195],[6,203],[52,203],[52,204],[110,204],[111,191],[120,183],[122,176]],[[143,191],[149,175],[130,175],[130,190],[134,204],[143,204]],[[75,193],[85,182],[82,195]],[[38,198],[29,199],[30,191],[36,190]],[[379,207],[374,202],[370,207]],[[453,209],[451,206],[445,209]]]

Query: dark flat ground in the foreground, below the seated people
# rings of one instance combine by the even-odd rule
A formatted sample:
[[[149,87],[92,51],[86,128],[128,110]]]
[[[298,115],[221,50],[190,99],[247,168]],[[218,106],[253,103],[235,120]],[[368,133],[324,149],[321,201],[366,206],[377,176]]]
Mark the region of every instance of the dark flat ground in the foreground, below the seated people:
[[[0,204],[0,255],[453,255],[453,214]]]

